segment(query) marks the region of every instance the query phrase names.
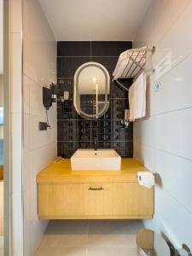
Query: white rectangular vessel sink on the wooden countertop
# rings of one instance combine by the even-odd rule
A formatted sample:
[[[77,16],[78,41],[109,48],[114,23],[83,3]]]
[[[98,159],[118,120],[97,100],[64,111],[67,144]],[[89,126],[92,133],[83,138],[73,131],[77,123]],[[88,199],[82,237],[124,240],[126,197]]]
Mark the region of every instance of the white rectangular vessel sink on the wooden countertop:
[[[119,171],[121,157],[114,149],[78,149],[71,166],[72,171]]]

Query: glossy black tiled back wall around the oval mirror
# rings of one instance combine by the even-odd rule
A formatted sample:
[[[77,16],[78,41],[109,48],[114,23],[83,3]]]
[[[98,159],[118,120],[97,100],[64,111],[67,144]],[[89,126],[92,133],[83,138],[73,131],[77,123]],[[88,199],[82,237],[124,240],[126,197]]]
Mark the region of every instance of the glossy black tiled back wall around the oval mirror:
[[[98,148],[114,148],[122,157],[132,157],[133,125],[121,125],[128,96],[111,80],[109,108],[100,119],[83,119],[73,107],[73,76],[76,69],[87,61],[96,61],[108,69],[112,78],[119,54],[131,49],[131,42],[78,42],[57,43],[57,96],[69,91],[67,102],[57,102],[58,155],[71,157],[78,148],[93,148],[97,138]],[[122,79],[129,88],[131,79]]]

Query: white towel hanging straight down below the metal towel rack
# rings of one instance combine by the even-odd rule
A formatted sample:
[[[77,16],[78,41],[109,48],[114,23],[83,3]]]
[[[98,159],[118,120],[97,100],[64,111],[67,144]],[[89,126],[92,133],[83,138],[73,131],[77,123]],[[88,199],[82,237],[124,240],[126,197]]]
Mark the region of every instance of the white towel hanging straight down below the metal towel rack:
[[[129,89],[130,121],[146,116],[146,74],[141,73]]]

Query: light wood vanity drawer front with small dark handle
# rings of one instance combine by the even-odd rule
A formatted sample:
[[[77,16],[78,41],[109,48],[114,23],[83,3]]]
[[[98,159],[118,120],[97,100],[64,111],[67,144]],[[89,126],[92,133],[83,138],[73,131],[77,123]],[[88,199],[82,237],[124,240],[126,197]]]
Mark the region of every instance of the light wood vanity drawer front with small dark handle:
[[[38,184],[39,218],[151,218],[154,189],[137,183]]]

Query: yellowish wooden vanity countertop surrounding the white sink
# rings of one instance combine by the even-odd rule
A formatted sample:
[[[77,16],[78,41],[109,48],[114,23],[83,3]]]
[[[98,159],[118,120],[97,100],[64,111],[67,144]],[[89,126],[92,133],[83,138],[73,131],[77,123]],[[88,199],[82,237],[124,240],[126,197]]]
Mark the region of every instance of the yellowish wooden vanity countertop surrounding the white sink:
[[[70,159],[63,159],[39,172],[37,181],[38,183],[137,183],[139,171],[148,171],[148,169],[134,159],[122,159],[121,171],[72,171]]]

